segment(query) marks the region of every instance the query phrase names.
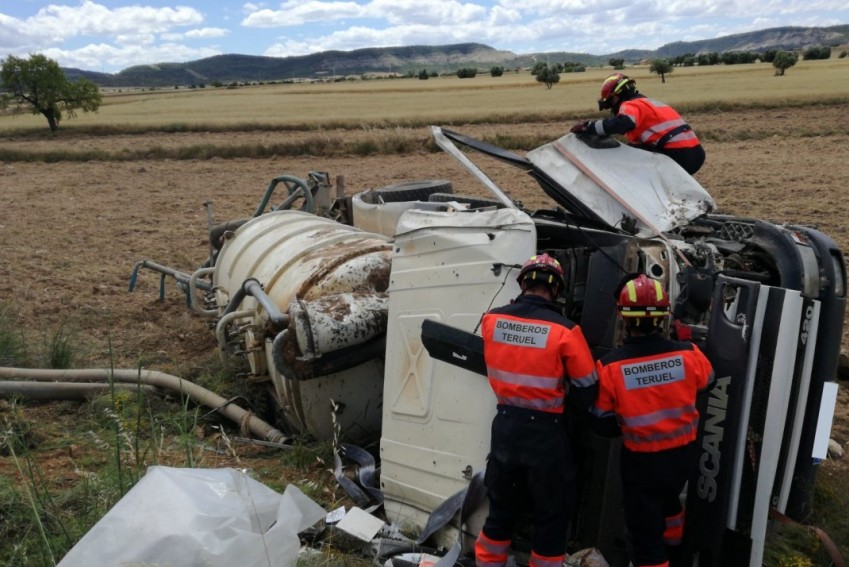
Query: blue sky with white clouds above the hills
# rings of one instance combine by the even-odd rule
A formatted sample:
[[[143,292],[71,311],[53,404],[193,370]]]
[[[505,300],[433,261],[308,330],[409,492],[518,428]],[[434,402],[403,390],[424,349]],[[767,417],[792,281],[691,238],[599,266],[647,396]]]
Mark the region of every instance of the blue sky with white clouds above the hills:
[[[224,53],[465,42],[603,55],[847,23],[847,0],[0,0],[0,58],[43,53],[64,67],[112,73]]]

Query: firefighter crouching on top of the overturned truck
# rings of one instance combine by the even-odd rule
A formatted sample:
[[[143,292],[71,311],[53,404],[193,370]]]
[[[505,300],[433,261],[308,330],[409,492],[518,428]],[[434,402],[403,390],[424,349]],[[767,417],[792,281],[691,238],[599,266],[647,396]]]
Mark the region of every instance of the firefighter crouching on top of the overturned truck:
[[[671,106],[640,94],[634,79],[622,73],[607,77],[598,109],[609,109],[612,116],[577,122],[570,131],[623,134],[629,145],[669,156],[690,175],[704,164],[705,150],[690,125]]]

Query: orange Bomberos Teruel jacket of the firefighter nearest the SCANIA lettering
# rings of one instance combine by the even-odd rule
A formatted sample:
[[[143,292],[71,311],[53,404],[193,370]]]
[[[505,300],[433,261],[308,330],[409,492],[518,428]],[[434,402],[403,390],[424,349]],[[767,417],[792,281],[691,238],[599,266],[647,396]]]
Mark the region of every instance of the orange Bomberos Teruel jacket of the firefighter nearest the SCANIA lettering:
[[[696,393],[713,383],[713,368],[696,345],[661,336],[631,338],[602,357],[597,371],[591,411],[601,418],[615,414],[627,449],[663,451],[696,438]]]

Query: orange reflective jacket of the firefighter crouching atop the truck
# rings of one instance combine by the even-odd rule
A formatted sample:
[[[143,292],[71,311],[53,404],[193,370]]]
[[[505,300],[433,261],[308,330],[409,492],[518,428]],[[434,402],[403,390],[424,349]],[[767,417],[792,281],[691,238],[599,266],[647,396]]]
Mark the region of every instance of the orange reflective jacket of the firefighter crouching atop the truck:
[[[622,101],[615,117],[597,122],[596,131],[605,135],[623,134],[632,145],[658,150],[693,148],[700,144],[695,132],[674,108],[640,94]]]

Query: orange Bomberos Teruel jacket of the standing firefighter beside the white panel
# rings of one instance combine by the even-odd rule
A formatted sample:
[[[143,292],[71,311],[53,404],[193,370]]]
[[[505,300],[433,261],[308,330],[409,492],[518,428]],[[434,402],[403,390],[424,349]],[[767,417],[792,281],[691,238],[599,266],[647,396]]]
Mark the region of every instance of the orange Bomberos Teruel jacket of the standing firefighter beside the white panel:
[[[499,404],[563,413],[567,376],[576,388],[596,386],[595,363],[581,328],[542,297],[520,295],[490,310],[481,330]]]

